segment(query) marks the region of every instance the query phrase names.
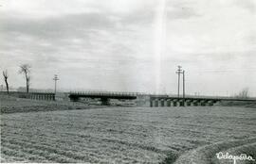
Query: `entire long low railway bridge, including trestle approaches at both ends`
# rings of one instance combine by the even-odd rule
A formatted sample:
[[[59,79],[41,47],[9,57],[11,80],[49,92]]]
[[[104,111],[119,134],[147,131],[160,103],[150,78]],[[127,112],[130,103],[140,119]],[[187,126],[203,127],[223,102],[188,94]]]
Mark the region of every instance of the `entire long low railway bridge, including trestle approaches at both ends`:
[[[0,94],[7,94],[1,91]],[[111,99],[132,100],[137,107],[179,107],[179,106],[213,106],[218,102],[242,101],[255,103],[256,98],[232,98],[232,97],[212,97],[212,96],[190,96],[185,98],[175,95],[156,95],[141,92],[116,92],[116,91],[85,91],[85,92],[60,92],[57,94],[49,92],[18,92],[11,91],[9,95],[45,101],[80,101],[81,98],[91,98],[101,100],[101,105],[110,105]]]

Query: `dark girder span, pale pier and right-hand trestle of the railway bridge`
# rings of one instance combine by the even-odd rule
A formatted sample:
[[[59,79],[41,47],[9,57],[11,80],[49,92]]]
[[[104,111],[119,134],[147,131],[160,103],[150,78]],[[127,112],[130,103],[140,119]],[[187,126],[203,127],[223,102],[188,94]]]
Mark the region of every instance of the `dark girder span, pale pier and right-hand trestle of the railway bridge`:
[[[221,101],[247,101],[255,102],[256,99],[239,99],[231,97],[186,96],[185,98],[170,95],[155,95],[139,92],[111,92],[111,91],[86,91],[69,92],[70,101],[79,101],[80,98],[98,98],[102,105],[109,105],[110,99],[135,100],[137,107],[177,107],[177,106],[213,106]]]

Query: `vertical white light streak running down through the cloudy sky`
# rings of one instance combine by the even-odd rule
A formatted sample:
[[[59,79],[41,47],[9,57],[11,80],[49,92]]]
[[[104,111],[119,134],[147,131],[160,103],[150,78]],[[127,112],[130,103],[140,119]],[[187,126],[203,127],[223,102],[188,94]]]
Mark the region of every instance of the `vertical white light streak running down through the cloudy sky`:
[[[166,0],[158,1],[155,14],[155,92],[161,90],[161,60],[166,47]]]

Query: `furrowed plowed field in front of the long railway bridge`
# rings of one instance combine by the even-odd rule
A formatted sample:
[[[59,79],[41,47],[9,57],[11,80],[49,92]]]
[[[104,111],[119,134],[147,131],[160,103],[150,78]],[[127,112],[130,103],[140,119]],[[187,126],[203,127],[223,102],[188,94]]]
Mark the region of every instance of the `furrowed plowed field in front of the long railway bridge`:
[[[223,145],[235,152],[235,147],[255,145],[255,137],[255,108],[108,107],[11,113],[1,115],[1,161],[182,163],[194,157],[192,150],[209,146],[210,151],[223,142],[218,150]],[[197,152],[218,162],[216,151]]]

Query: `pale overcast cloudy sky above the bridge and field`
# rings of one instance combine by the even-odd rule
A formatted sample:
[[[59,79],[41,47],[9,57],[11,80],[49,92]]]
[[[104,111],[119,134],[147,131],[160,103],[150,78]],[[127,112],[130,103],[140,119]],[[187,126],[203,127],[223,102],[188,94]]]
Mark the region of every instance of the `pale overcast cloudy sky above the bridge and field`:
[[[31,88],[256,96],[255,0],[0,0],[0,70]],[[1,78],[2,79],[2,78]],[[4,84],[2,80],[0,84]]]

